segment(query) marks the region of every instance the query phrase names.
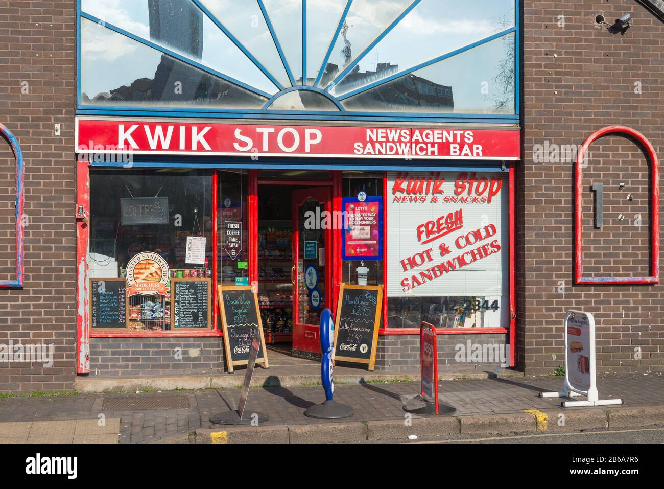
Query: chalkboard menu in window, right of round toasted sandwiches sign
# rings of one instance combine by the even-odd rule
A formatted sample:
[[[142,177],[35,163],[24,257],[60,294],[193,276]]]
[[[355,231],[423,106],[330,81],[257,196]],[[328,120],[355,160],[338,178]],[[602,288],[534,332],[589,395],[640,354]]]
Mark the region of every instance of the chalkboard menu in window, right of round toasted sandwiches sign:
[[[173,329],[210,328],[210,278],[171,278]]]

